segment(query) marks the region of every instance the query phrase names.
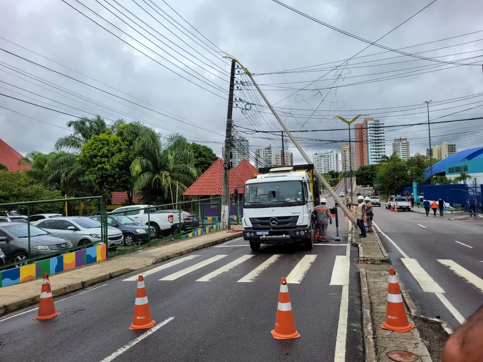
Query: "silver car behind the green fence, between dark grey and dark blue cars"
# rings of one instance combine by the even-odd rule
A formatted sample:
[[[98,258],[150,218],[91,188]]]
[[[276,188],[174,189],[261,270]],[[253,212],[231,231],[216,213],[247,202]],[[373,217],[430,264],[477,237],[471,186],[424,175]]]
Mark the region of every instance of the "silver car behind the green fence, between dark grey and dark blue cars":
[[[31,223],[51,234],[72,242],[74,247],[102,242],[101,223],[85,216],[53,217]],[[123,244],[123,235],[119,229],[107,227],[107,248],[117,248]]]

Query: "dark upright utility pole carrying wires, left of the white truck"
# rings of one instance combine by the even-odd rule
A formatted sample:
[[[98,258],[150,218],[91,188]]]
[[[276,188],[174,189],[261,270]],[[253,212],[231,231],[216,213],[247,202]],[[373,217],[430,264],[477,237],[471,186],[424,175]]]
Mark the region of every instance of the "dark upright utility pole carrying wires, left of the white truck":
[[[230,168],[232,145],[232,117],[233,117],[233,90],[235,87],[235,59],[232,59],[230,72],[230,91],[228,94],[228,111],[226,114],[225,155],[223,157],[223,193],[221,195],[221,230],[228,229],[230,218]]]

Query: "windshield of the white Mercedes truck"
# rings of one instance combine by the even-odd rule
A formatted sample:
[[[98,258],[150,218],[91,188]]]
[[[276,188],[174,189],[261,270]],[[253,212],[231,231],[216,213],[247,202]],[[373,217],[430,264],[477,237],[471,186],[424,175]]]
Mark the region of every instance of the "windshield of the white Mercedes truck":
[[[301,181],[272,181],[245,185],[244,207],[302,205]]]

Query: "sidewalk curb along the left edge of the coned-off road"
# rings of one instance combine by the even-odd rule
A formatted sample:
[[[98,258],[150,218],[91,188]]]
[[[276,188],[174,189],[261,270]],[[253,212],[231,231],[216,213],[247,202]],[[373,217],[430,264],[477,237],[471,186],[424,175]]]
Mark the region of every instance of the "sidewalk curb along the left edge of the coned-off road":
[[[160,262],[168,260],[168,259],[174,259],[174,258],[177,258],[181,255],[191,253],[195,250],[208,248],[210,246],[220,244],[222,242],[225,242],[225,241],[228,241],[228,240],[231,240],[231,239],[235,239],[235,238],[240,237],[242,235],[243,235],[242,232],[231,233],[229,235],[222,237],[221,239],[218,239],[218,240],[215,240],[215,241],[210,241],[210,242],[207,242],[207,243],[204,243],[204,244],[201,244],[201,245],[197,245],[195,247],[187,248],[187,249],[182,250],[180,252],[176,252],[176,253],[172,253],[172,254],[169,254],[169,255],[164,255],[162,257],[156,258],[156,259],[153,260],[153,262],[151,264],[160,263]],[[142,268],[144,268],[144,266]],[[139,269],[142,269],[142,268],[139,268]],[[134,270],[137,270],[137,269],[123,268],[123,269],[115,270],[113,272],[103,274],[103,275],[99,275],[97,277],[90,278],[90,279],[87,279],[87,280],[76,281],[75,283],[68,284],[68,285],[62,286],[60,288],[52,289],[52,295],[54,297],[58,297],[59,295],[71,293],[73,291],[83,289],[83,288],[86,288],[88,286],[100,283],[100,282],[105,282],[108,279],[118,277],[119,275],[122,275],[122,274],[130,273]],[[39,291],[39,294],[34,296],[34,297],[27,297],[27,298],[20,299],[20,300],[14,301],[12,303],[0,306],[0,316],[4,315],[6,313],[10,313],[10,312],[15,311],[15,310],[19,310],[19,309],[28,307],[32,304],[38,303],[39,300],[40,300],[40,291]]]

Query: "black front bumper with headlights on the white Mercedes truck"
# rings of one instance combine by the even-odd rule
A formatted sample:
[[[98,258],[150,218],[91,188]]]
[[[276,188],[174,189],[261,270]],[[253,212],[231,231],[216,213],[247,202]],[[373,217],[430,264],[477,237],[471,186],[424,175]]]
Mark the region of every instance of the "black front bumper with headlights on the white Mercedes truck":
[[[268,234],[260,234],[268,232]],[[244,228],[243,239],[261,244],[290,244],[305,242],[310,239],[311,233],[308,227],[295,229],[255,230]]]

